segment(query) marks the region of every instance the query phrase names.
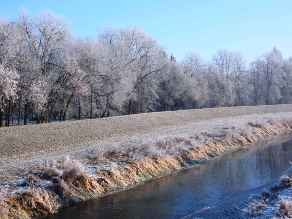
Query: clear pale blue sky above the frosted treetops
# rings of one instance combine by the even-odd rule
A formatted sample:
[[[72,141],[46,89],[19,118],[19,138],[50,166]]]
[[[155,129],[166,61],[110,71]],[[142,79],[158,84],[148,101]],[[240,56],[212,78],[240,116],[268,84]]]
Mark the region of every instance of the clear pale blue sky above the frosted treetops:
[[[32,14],[46,8],[64,15],[75,36],[137,25],[177,60],[193,51],[207,61],[226,48],[250,62],[273,46],[292,56],[291,0],[0,0],[0,15],[13,18],[22,6]]]

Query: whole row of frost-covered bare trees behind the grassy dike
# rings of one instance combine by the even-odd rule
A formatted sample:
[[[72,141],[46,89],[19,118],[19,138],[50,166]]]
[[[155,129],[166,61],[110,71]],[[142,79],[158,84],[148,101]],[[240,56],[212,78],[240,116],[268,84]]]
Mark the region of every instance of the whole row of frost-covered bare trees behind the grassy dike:
[[[137,27],[75,38],[51,12],[0,19],[0,127],[28,120],[292,102],[292,58],[276,48],[246,63],[240,52],[177,61]],[[12,119],[12,124],[11,124]],[[5,123],[4,123],[5,121]]]

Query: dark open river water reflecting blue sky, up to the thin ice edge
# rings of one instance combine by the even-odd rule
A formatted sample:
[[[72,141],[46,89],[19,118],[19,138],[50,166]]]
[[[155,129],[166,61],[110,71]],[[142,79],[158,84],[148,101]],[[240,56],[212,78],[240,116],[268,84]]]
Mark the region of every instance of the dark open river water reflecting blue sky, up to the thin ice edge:
[[[278,178],[292,160],[291,136],[259,142],[208,164],[61,209],[47,218],[181,218],[236,191]]]

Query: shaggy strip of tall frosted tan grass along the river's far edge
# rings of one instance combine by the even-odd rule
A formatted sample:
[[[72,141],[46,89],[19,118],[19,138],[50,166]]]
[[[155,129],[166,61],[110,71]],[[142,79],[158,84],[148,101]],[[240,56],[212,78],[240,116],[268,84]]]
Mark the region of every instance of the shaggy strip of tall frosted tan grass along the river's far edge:
[[[157,175],[204,163],[230,149],[291,130],[291,118],[265,118],[225,126],[216,132],[180,134],[116,145],[102,153],[35,166],[30,174],[1,190],[1,218],[54,213],[61,206],[140,183]],[[21,187],[22,186],[22,187]],[[27,187],[28,186],[28,187]]]

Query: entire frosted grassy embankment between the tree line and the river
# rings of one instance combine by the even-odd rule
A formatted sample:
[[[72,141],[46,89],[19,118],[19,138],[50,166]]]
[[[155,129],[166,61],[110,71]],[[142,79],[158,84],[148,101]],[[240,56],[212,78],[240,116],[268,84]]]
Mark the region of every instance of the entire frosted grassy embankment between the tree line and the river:
[[[292,105],[1,128],[0,218],[54,213],[291,130]]]

